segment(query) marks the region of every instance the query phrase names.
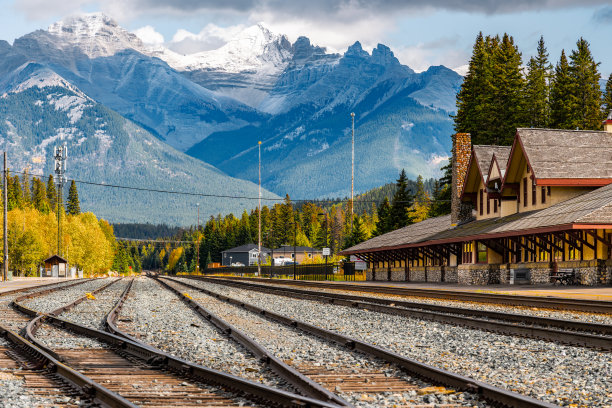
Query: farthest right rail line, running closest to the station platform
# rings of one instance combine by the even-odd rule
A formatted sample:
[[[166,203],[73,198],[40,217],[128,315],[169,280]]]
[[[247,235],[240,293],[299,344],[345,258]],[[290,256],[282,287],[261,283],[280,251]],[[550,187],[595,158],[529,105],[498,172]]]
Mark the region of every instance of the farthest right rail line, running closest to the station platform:
[[[243,278],[239,276],[218,276],[214,279],[271,282],[269,278]],[[605,300],[567,299],[554,296],[543,297],[524,295],[503,295],[446,289],[418,289],[399,286],[393,287],[384,285],[365,285],[355,283],[328,283],[288,279],[275,279],[272,282],[282,285],[309,286],[313,288],[339,289],[355,292],[371,292],[388,295],[427,297],[446,300],[462,300],[469,302],[493,303],[509,306],[540,307],[545,309],[576,310],[580,312],[590,313],[612,313],[612,302]]]

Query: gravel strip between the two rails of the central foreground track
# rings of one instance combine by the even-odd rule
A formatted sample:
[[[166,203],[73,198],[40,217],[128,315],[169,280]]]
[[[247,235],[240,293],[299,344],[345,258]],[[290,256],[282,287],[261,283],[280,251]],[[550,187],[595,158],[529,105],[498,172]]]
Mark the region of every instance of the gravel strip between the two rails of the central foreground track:
[[[350,374],[377,372],[385,377],[399,378],[406,382],[405,392],[374,392],[365,390],[345,392],[342,384],[330,391],[356,407],[382,407],[403,404],[457,404],[466,407],[485,407],[487,404],[478,401],[473,394],[457,392],[444,395],[436,392],[426,392],[431,384],[411,378],[398,368],[388,363],[371,358],[358,352],[348,351],[343,347],[320,339],[285,325],[264,319],[255,313],[246,311],[234,305],[217,300],[193,289],[174,284],[178,289],[189,294],[204,308],[244,331],[249,337],[266,347],[276,357],[302,369],[323,369],[327,374],[347,376]],[[365,386],[366,384],[364,384]],[[417,389],[409,390],[413,385]],[[328,387],[329,388],[329,387]]]

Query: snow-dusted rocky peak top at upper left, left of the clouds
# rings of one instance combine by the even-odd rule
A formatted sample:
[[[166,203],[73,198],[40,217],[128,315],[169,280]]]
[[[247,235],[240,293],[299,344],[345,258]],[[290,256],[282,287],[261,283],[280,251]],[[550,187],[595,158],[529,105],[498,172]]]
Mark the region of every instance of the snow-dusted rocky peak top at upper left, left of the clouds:
[[[114,55],[123,49],[142,51],[136,35],[103,13],[78,14],[53,23],[47,29],[67,44],[77,45],[90,58]]]

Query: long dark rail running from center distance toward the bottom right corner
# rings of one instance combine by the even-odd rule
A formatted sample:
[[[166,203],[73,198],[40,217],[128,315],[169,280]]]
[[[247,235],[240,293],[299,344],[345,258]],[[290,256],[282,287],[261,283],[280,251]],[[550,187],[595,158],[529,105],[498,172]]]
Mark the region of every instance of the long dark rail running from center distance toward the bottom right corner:
[[[431,366],[429,364],[421,363],[417,360],[402,356],[393,351],[367,343],[365,341],[361,341],[350,336],[345,336],[343,334],[339,334],[331,330],[323,329],[321,327],[302,322],[298,319],[286,317],[281,314],[260,308],[258,306],[245,303],[241,300],[233,299],[228,296],[221,295],[219,293],[215,293],[186,282],[176,280],[175,282],[178,282],[182,285],[185,285],[186,287],[200,291],[207,295],[213,296],[219,300],[223,300],[229,304],[240,306],[243,309],[257,313],[261,316],[267,317],[279,323],[283,323],[287,326],[295,327],[307,333],[311,333],[324,339],[333,341],[351,350],[358,350],[365,354],[378,357],[389,363],[395,364],[405,369],[407,372],[420,378],[423,378],[427,381],[441,384],[446,387],[452,387],[463,391],[473,392],[475,394],[480,395],[483,399],[494,404],[501,404],[503,406],[516,408],[558,408],[557,405],[545,401],[540,401],[535,398],[521,395],[499,387],[495,387],[491,384],[478,381],[470,377],[462,376],[460,374],[452,373],[450,371],[446,371]]]

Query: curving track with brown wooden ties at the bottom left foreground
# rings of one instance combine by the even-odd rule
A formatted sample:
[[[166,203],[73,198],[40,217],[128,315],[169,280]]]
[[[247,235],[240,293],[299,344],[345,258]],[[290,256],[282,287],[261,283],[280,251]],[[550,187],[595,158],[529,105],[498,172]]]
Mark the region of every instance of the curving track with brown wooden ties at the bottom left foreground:
[[[47,355],[54,367],[70,370],[76,387],[102,405],[337,406],[210,370],[142,343],[58,317],[85,299],[77,299],[49,314],[39,314],[18,300],[13,305],[33,317],[26,327],[32,347]],[[37,332],[43,333],[43,338]]]

